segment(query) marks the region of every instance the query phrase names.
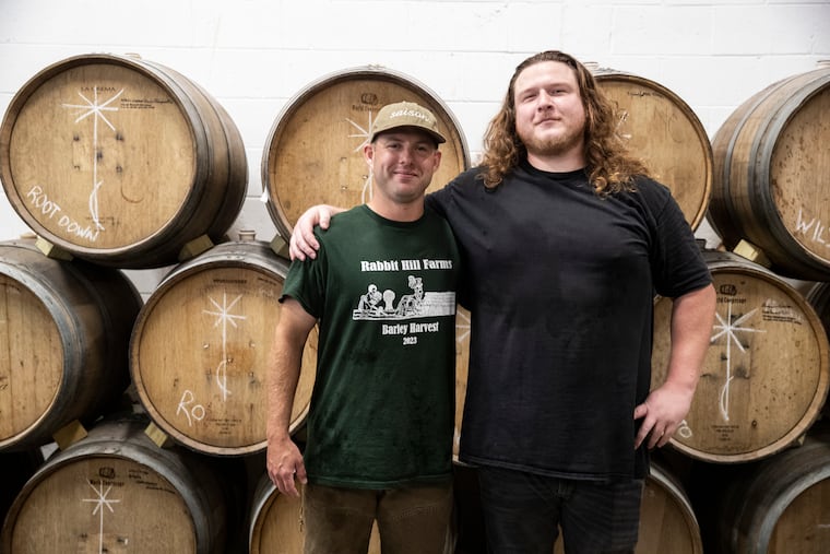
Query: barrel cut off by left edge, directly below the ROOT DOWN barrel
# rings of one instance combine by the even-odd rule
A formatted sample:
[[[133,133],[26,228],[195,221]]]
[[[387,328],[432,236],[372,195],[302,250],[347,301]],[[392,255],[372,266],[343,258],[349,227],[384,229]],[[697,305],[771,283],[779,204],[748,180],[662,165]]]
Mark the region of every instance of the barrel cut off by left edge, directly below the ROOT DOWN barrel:
[[[0,449],[44,445],[116,404],[140,309],[119,270],[0,243]]]

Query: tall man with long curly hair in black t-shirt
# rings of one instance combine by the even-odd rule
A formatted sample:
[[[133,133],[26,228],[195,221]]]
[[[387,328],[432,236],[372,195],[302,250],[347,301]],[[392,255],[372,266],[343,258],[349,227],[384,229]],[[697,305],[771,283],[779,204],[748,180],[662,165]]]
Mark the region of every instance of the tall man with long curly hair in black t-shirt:
[[[472,313],[459,458],[476,465],[490,552],[633,552],[649,450],[688,413],[715,294],[665,186],[617,134],[573,57],[518,66],[482,163],[427,198],[450,222]],[[328,211],[309,211],[309,219]],[[312,254],[308,222],[293,254]],[[305,249],[305,250],[304,250]],[[654,295],[674,299],[651,386]]]

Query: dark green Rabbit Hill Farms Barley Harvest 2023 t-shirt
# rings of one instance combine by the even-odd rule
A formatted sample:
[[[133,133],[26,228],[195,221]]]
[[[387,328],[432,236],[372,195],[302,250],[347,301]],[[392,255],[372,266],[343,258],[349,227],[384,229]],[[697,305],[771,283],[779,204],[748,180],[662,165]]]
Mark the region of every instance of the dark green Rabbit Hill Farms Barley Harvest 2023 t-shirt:
[[[460,258],[431,210],[412,223],[359,205],[316,229],[283,295],[319,320],[304,451],[309,481],[393,488],[449,479]]]

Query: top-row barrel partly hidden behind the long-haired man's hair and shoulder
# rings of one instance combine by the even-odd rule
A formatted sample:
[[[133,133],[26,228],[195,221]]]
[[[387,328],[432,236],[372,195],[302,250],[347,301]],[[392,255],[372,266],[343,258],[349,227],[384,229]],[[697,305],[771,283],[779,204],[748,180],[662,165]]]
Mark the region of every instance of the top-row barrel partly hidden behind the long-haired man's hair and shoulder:
[[[649,79],[606,68],[592,70],[619,109],[619,132],[645,161],[697,228],[712,193],[712,146],[703,125],[677,94]]]

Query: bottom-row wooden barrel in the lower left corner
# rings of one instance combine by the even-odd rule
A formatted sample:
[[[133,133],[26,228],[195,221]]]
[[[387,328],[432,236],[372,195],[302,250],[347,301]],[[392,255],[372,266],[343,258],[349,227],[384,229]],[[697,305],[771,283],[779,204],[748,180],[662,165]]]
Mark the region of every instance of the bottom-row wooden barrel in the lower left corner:
[[[103,421],[50,458],[9,511],[0,550],[14,554],[225,554],[228,495],[205,460],[158,448],[147,421]]]

